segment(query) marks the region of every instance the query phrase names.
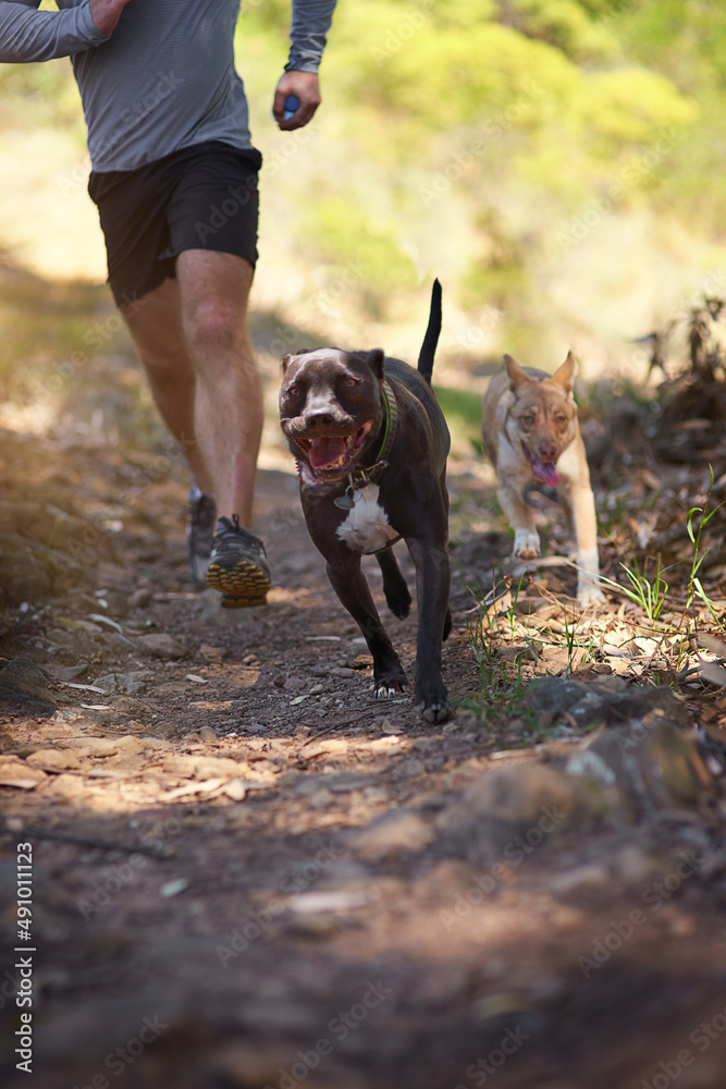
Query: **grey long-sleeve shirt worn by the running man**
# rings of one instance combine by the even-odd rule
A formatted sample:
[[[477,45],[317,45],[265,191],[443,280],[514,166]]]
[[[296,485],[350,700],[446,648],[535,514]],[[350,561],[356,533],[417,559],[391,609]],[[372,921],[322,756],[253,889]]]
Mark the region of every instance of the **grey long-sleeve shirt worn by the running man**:
[[[70,57],[96,171],[134,170],[171,151],[220,139],[251,146],[234,68],[239,0],[132,0],[110,35],[88,0],[0,0],[0,61]],[[293,0],[285,68],[316,72],[335,0]]]

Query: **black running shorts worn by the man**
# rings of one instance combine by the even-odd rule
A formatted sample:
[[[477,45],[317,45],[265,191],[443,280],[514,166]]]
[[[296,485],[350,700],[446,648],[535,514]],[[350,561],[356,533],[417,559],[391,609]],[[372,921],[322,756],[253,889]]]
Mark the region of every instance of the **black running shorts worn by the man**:
[[[119,306],[175,276],[184,249],[257,261],[257,175],[262,157],[221,140],[182,148],[137,170],[91,173],[88,193],[106,238]]]

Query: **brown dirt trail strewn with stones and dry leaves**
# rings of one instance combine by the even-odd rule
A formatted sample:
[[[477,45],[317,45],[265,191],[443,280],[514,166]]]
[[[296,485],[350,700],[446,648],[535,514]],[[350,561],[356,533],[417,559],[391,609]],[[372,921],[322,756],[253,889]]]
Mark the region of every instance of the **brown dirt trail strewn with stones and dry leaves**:
[[[188,592],[179,466],[0,453],[3,1085],[723,1087],[723,780],[696,742],[716,697],[637,687],[635,654],[578,669],[542,621],[501,669],[558,674],[554,697],[487,711],[467,587],[508,542],[463,527],[491,488],[452,479],[457,711],[431,726],[370,699],[293,476],[260,475],[270,603],[230,615]],[[542,578],[540,617],[574,576]],[[415,614],[386,624],[411,676]],[[593,736],[628,758],[612,782],[565,771]]]

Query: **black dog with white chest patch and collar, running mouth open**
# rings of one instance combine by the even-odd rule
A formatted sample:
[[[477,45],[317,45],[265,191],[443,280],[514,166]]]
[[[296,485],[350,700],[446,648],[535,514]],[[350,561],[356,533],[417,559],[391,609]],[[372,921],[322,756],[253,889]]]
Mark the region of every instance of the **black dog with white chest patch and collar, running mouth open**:
[[[440,332],[436,280],[418,371],[385,358],[380,348],[317,348],[285,356],[280,391],[280,424],[297,458],[308,530],[373,656],[379,698],[394,696],[407,682],[360,556],[376,553],[385,600],[403,620],[411,598],[392,546],[406,541],[416,565],[416,700],[430,722],[448,717],[441,644],[452,626],[445,482],[451,440],[430,384]]]

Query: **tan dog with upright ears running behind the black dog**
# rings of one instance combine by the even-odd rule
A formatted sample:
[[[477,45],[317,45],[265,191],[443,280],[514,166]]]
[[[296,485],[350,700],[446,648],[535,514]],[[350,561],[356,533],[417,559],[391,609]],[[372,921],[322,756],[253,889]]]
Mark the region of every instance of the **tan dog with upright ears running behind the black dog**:
[[[497,473],[502,510],[514,535],[514,555],[540,555],[540,538],[524,499],[528,484],[556,487],[577,541],[577,598],[580,604],[604,601],[598,583],[598,525],[590,470],[573,397],[575,357],[545,375],[522,369],[510,355],[506,370],[494,375],[483,401],[483,440]]]

